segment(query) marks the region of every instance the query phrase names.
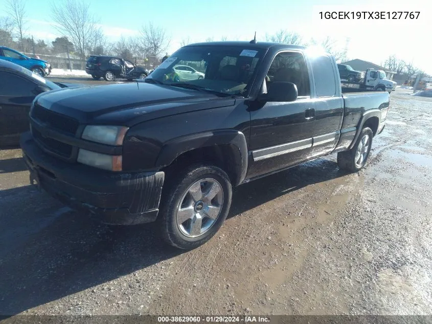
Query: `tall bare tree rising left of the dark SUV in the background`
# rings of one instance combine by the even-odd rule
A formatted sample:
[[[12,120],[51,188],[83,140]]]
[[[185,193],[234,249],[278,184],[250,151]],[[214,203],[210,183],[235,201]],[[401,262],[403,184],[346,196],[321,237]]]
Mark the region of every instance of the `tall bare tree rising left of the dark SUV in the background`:
[[[89,11],[89,4],[83,0],[65,0],[52,5],[54,27],[67,37],[81,60],[85,61],[86,53],[97,44],[102,35],[95,16]]]

